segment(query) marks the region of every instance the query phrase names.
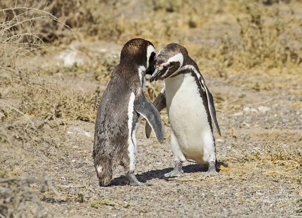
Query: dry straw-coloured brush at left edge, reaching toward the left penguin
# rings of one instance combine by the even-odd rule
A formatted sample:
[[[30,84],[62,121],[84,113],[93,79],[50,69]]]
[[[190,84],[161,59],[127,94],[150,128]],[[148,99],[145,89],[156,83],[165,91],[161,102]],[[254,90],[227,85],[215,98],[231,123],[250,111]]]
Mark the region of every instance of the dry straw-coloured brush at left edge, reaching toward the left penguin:
[[[18,10],[13,10],[14,14]],[[31,10],[27,9],[23,15],[30,14]],[[49,141],[47,138],[54,134],[45,129],[45,125],[57,131],[60,129],[57,126],[66,125],[66,120],[93,121],[99,96],[62,91],[55,83],[62,77],[60,71],[49,79],[43,77],[45,70],[30,71],[16,65],[19,58],[37,52],[41,47],[46,48],[38,34],[22,32],[22,26],[32,21],[18,21],[21,18],[15,14],[10,21],[0,23],[0,141],[11,144],[33,141],[37,144]],[[44,17],[37,19],[43,21]],[[56,18],[53,20],[57,21]]]

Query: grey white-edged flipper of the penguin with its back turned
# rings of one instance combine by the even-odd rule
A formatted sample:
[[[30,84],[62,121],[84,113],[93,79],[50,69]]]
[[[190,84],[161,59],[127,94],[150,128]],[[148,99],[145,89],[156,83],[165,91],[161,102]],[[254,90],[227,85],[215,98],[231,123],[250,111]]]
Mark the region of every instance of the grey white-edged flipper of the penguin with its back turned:
[[[155,106],[149,102],[143,93],[135,96],[134,108],[137,113],[142,115],[153,129],[159,143],[164,141],[165,129],[162,117]]]

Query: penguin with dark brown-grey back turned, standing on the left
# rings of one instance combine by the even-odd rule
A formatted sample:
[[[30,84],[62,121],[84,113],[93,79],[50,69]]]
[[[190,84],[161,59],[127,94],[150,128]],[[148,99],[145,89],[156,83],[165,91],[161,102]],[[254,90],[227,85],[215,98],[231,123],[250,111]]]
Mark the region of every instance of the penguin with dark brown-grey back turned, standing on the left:
[[[143,116],[157,140],[164,140],[161,116],[144,95],[145,75],[152,75],[156,59],[153,44],[144,39],[132,39],[121,50],[120,63],[112,72],[95,122],[92,156],[100,186],[109,184],[118,165],[124,167],[130,185],[150,185],[139,182],[134,174],[135,134]]]

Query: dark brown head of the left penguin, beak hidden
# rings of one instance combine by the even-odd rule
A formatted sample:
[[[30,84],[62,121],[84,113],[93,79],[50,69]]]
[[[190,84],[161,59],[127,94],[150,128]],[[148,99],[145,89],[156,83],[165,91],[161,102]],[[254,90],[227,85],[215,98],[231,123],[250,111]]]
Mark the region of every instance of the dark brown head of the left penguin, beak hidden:
[[[146,68],[146,74],[152,75],[155,70],[157,55],[154,45],[144,39],[129,40],[121,51],[120,62],[132,61]]]

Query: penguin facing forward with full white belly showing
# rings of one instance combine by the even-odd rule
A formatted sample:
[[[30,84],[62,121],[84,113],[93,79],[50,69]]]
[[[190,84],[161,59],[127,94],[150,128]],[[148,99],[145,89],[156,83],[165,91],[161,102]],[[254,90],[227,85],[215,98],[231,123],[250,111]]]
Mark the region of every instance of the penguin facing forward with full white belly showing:
[[[174,169],[165,177],[182,177],[182,164],[193,160],[208,163],[205,176],[219,176],[216,171],[216,146],[213,126],[220,134],[213,96],[200,74],[198,65],[185,47],[171,43],[157,55],[156,69],[150,82],[164,80],[165,85],[154,101],[160,112],[165,107],[171,124]],[[149,138],[151,128],[145,126]]]

